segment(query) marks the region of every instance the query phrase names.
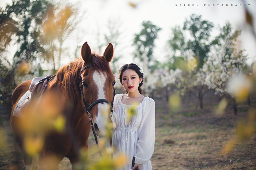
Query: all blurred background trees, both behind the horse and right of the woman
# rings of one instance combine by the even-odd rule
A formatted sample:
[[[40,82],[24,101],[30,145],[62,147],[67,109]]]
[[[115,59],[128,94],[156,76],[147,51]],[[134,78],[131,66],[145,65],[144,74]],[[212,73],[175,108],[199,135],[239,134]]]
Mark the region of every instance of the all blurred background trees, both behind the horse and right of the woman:
[[[1,101],[10,103],[12,90],[19,81],[31,78],[28,77],[28,70],[30,75],[34,73],[34,77],[41,74],[40,65],[37,67],[38,61],[48,62],[52,65],[52,74],[56,73],[61,56],[68,51],[64,44],[82,21],[84,13],[82,16],[80,13],[72,4],[53,4],[46,0],[18,0],[0,9],[0,56],[4,59],[0,60],[3,70],[0,73]],[[118,49],[116,47],[121,45],[119,38],[122,35],[119,25],[119,22],[109,20],[108,34],[104,34],[104,42],[99,40],[99,49],[108,42]],[[236,88],[229,82],[236,81],[236,78],[247,82],[253,68],[246,64],[247,55],[239,48],[241,31],[234,30],[227,22],[218,28],[218,35],[212,37],[214,27],[212,22],[195,14],[187,18],[182,27],[173,27],[170,39],[166,42],[168,55],[166,61],[161,63],[154,56],[155,40],[161,28],[144,21],[131,45],[135,47],[134,59],[147,73],[145,92],[155,95],[156,89],[162,88],[166,90],[167,99],[173,91],[180,96],[190,93],[197,97],[198,106],[203,108],[204,94],[212,89],[220,98],[232,101],[236,114],[236,100],[248,98],[252,83],[246,87],[242,84],[246,90],[243,94],[237,94]],[[13,63],[9,63],[5,49],[13,41],[18,48]],[[80,48],[80,44],[77,45],[72,58],[77,57]],[[118,50],[115,51],[111,62],[115,75],[120,58],[122,55],[118,55]],[[234,74],[239,76],[232,77]]]

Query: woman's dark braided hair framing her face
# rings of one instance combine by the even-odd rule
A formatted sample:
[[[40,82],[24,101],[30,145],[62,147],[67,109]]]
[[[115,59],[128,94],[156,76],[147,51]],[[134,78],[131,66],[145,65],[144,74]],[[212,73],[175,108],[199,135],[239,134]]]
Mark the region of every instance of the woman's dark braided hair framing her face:
[[[123,83],[122,83],[123,72],[124,72],[125,70],[128,70],[128,69],[134,70],[134,71],[139,75],[139,78],[142,78],[142,81],[140,82],[139,87],[138,87],[138,90],[139,90],[139,92],[140,92],[140,94],[141,94],[142,90],[141,90],[140,87],[143,85],[143,73],[140,72],[140,67],[139,67],[138,65],[133,64],[133,63],[131,63],[131,64],[124,64],[124,65],[119,69],[119,71],[118,71],[118,79],[119,79],[119,81],[120,81],[121,84],[123,85]],[[125,93],[127,93],[126,90],[125,90]]]

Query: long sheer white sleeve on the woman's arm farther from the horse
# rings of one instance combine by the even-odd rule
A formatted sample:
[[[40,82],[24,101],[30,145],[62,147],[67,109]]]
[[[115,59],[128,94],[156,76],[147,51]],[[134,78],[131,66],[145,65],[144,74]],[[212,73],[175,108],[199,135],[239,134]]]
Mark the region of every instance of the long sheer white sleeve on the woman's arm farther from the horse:
[[[135,154],[137,164],[147,163],[153,155],[155,146],[155,101],[149,98],[145,104],[145,114],[138,130],[139,139]]]

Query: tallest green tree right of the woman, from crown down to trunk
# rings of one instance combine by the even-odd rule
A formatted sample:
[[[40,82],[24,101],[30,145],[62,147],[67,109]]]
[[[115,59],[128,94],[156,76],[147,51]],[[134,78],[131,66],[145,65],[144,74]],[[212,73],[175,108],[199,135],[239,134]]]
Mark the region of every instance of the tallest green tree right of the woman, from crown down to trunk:
[[[189,92],[197,97],[200,108],[203,108],[203,97],[208,92],[207,87],[200,80],[202,73],[198,72],[204,60],[207,59],[210,47],[215,41],[210,41],[210,32],[213,28],[212,22],[203,20],[202,16],[192,14],[190,20],[186,19],[183,29],[180,26],[172,28],[172,36],[167,41],[169,54],[166,62],[169,69],[181,69],[182,86],[179,87],[181,94]],[[191,37],[185,37],[188,32]],[[192,67],[191,67],[192,66]]]

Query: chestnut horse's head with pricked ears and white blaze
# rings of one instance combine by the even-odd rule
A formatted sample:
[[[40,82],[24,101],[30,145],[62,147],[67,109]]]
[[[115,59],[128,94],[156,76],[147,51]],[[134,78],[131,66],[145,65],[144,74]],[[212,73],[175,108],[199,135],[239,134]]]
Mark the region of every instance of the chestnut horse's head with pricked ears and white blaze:
[[[89,111],[87,114],[92,118],[96,134],[101,137],[106,134],[106,126],[114,98],[116,82],[109,67],[114,48],[109,43],[103,56],[99,56],[92,54],[91,48],[85,42],[81,54],[84,60],[84,68],[81,70],[81,88],[85,100],[85,109]]]

